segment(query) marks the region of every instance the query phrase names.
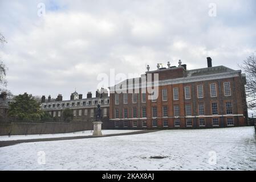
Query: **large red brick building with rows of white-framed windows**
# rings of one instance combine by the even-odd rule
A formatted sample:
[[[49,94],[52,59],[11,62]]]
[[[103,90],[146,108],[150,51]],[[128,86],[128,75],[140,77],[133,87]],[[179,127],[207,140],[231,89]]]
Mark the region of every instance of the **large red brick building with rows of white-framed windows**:
[[[218,66],[187,70],[186,65],[148,71],[112,86],[109,119],[118,129],[211,128],[247,125],[246,78]],[[153,79],[148,76],[152,74]],[[154,76],[159,77],[154,82]],[[143,82],[147,80],[147,82]],[[137,83],[139,81],[139,83]],[[146,90],[157,84],[155,91]],[[152,94],[153,93],[153,94]],[[155,94],[154,94],[155,93]],[[157,94],[156,94],[157,93]],[[152,98],[150,98],[151,96]]]

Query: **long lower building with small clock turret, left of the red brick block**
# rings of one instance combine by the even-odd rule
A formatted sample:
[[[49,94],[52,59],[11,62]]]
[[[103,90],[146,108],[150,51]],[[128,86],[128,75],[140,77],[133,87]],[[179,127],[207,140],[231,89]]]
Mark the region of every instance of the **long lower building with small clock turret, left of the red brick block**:
[[[82,94],[77,92],[71,93],[70,100],[63,101],[62,95],[59,94],[56,99],[48,96],[42,96],[41,109],[48,111],[52,117],[61,119],[64,109],[69,108],[73,111],[74,120],[89,121],[95,119],[95,109],[99,104],[101,107],[102,117],[107,119],[109,117],[109,97],[108,91],[101,88],[96,91],[96,97],[92,98],[92,93],[87,93],[87,98],[83,98]]]

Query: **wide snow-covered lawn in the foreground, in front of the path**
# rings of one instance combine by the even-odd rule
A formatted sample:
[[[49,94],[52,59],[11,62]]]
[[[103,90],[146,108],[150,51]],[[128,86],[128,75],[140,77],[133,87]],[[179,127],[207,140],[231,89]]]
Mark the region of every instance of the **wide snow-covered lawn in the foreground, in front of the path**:
[[[256,170],[253,127],[21,143],[0,154],[1,170]]]

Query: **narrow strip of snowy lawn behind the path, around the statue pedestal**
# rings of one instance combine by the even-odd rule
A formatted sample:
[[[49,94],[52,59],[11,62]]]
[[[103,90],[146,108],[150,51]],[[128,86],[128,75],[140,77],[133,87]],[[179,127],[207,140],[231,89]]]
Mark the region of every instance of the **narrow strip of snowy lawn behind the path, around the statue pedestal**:
[[[120,133],[131,133],[134,131],[141,130],[101,130],[103,135],[108,134],[120,134]],[[60,133],[60,134],[43,134],[43,135],[11,135],[11,137],[2,136],[0,141],[9,141],[9,140],[26,140],[26,139],[38,139],[38,138],[60,138],[60,137],[81,137],[81,136],[90,136],[92,135],[93,130],[78,131],[75,133]]]

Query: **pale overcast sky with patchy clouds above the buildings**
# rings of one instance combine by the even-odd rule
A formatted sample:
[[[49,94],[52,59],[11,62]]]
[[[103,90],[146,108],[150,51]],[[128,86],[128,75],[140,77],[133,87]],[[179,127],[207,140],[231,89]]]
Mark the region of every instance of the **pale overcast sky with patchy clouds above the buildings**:
[[[209,3],[216,4],[216,16],[209,16]],[[254,0],[0,0],[7,89],[68,99],[76,88],[85,97],[95,94],[97,75],[110,69],[143,73],[146,64],[156,69],[179,59],[188,69],[202,68],[208,56],[213,66],[239,69],[256,51],[255,13]]]

